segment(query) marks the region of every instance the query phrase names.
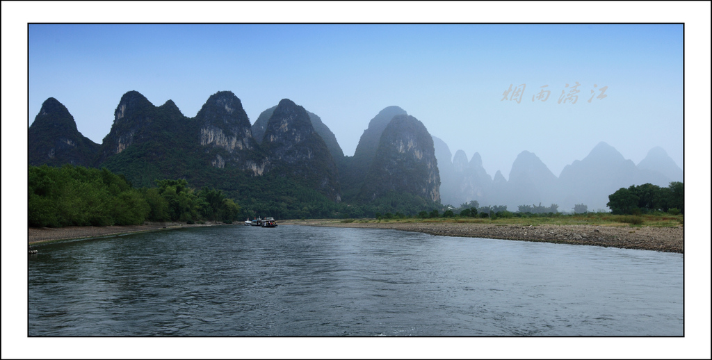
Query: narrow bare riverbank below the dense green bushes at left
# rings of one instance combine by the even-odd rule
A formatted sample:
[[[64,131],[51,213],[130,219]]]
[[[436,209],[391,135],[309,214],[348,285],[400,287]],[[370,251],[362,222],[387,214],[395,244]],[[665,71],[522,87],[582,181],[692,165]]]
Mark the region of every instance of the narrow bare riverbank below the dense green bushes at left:
[[[56,240],[73,240],[82,238],[98,238],[101,236],[120,235],[125,233],[140,233],[143,231],[160,231],[175,228],[192,228],[198,226],[222,226],[226,223],[150,223],[132,226],[67,226],[65,228],[28,228],[28,243],[46,243]]]

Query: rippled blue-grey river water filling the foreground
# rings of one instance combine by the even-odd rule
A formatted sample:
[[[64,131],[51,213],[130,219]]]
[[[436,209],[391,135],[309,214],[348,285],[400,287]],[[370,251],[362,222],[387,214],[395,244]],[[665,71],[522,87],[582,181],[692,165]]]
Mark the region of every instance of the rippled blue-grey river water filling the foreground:
[[[35,336],[682,336],[681,254],[308,226],[38,247]]]

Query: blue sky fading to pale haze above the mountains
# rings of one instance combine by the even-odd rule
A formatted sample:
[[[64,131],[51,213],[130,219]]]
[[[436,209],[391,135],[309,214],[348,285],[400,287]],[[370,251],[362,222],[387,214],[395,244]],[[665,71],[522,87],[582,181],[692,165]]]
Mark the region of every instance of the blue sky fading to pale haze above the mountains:
[[[231,90],[251,122],[283,98],[302,105],[347,155],[372,117],[398,105],[453,154],[479,152],[491,175],[508,178],[528,150],[558,176],[602,141],[636,164],[660,146],[683,165],[681,24],[50,24],[28,34],[28,124],[55,97],[98,143],[127,91],[194,117]],[[543,90],[548,99],[533,101]]]

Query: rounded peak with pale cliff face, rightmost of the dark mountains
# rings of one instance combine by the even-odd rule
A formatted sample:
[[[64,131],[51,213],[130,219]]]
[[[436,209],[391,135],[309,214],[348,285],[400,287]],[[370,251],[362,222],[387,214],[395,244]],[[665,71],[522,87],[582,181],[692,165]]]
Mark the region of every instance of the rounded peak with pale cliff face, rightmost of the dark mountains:
[[[428,130],[415,117],[395,115],[383,129],[361,198],[374,200],[397,192],[439,202],[439,188],[440,174]]]

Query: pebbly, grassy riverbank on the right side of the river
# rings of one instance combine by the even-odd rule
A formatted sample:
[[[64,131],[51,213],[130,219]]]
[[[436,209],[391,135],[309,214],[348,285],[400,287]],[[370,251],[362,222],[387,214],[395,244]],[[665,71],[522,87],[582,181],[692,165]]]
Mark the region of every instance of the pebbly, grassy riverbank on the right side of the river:
[[[384,228],[430,235],[537,241],[612,248],[684,253],[682,226],[549,225],[458,222],[357,222],[339,220],[281,221],[283,225],[330,226],[343,228]]]

